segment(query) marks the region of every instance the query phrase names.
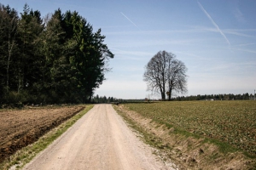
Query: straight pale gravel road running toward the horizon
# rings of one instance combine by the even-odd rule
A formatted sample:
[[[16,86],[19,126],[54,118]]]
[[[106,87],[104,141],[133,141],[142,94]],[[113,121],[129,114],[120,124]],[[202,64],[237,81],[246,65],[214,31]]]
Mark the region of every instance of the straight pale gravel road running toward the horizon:
[[[157,161],[112,105],[95,105],[24,169],[172,169]]]

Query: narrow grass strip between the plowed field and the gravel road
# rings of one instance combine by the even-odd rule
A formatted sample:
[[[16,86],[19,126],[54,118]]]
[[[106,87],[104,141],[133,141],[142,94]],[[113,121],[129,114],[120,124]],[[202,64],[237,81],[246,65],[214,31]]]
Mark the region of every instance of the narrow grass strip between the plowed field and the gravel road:
[[[29,161],[32,160],[38,153],[44,150],[49,144],[51,144],[55,139],[61,136],[62,133],[65,133],[69,127],[72,127],[75,122],[84,116],[94,105],[86,105],[83,111],[80,111],[75,116],[68,119],[66,122],[61,123],[60,126],[55,127],[49,133],[46,133],[43,137],[38,139],[37,142],[30,144],[21,150],[18,150],[13,156],[10,156],[9,159],[3,161],[0,164],[0,169],[8,170],[10,167],[14,169],[20,169],[26,165]]]

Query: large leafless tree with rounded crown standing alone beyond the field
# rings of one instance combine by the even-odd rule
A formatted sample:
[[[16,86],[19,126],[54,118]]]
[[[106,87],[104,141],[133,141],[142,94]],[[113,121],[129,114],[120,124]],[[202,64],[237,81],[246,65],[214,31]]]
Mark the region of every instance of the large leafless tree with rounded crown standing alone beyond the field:
[[[171,100],[172,92],[186,93],[187,68],[175,54],[160,51],[149,60],[145,66],[143,80],[147,82],[148,90],[160,93],[161,98]],[[167,92],[166,92],[167,90]]]

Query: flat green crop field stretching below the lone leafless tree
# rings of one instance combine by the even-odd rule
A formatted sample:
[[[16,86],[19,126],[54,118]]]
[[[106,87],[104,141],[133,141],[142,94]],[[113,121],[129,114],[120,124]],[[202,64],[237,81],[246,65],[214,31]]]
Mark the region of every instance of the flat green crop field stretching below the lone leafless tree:
[[[172,101],[125,105],[167,127],[217,139],[256,156],[256,101]]]

